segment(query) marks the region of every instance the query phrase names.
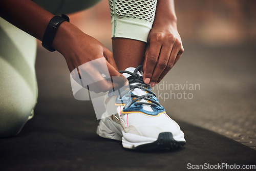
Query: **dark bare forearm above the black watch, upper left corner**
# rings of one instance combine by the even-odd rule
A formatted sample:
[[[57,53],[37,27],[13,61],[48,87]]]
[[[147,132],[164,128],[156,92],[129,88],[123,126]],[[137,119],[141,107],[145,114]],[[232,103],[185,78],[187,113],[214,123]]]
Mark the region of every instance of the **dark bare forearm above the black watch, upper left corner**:
[[[1,0],[0,16],[14,26],[42,40],[50,19],[50,12],[31,0]]]

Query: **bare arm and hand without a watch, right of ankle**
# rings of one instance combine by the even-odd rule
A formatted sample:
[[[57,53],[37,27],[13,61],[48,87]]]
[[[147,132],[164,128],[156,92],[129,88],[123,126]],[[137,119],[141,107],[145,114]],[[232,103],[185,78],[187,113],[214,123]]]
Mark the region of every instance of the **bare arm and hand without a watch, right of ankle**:
[[[153,27],[147,39],[144,82],[160,82],[179,60],[184,49],[177,30],[173,0],[158,0]]]

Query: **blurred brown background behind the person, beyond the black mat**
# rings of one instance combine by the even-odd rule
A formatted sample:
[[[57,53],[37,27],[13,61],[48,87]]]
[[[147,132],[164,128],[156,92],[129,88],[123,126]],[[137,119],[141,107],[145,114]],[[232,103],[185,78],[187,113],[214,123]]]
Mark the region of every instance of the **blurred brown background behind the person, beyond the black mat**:
[[[163,84],[199,84],[200,90],[185,90],[193,94],[192,99],[159,98],[161,104],[174,119],[256,149],[256,2],[179,0],[175,7],[185,52]],[[107,0],[71,14],[70,20],[112,50]],[[75,100],[64,58],[57,52],[47,52],[40,44],[37,56],[39,98]],[[154,90],[158,94],[184,92],[160,87]]]

